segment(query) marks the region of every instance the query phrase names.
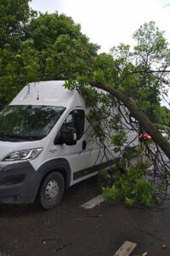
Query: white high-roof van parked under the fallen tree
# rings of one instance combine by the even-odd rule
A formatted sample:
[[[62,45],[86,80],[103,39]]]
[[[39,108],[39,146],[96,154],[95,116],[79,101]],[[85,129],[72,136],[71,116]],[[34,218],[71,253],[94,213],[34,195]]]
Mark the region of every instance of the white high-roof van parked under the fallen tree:
[[[57,205],[65,189],[111,166],[85,103],[64,81],[27,84],[0,113],[0,202]]]

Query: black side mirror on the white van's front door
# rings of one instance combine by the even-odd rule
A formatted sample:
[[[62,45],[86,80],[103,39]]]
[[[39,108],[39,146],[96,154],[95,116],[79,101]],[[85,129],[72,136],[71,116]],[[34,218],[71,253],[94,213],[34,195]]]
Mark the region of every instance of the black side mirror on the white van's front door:
[[[54,139],[54,145],[58,144],[76,145],[77,144],[77,131],[74,127],[63,125],[59,134]]]

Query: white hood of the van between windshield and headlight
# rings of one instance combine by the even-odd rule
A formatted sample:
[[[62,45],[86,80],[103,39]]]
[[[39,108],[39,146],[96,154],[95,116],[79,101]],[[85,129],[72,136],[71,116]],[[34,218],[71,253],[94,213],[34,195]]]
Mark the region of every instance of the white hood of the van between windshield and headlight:
[[[15,151],[42,148],[41,141],[35,142],[3,142],[0,141],[0,161],[2,161],[8,154]]]

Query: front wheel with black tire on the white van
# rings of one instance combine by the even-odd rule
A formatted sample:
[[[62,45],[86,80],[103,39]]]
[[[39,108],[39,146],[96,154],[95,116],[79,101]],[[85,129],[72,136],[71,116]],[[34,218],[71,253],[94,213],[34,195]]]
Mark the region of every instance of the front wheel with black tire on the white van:
[[[39,190],[38,201],[45,210],[59,204],[65,191],[65,180],[59,172],[51,172],[42,183]]]

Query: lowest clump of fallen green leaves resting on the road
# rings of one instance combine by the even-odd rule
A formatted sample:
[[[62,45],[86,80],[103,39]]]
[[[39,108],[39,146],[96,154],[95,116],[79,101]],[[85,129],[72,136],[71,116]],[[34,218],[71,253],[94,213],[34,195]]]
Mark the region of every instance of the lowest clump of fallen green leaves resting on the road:
[[[136,158],[140,157],[142,148],[139,148],[135,152]],[[127,162],[132,157],[129,154],[124,158],[124,168],[125,162]],[[133,155],[134,157],[134,155]],[[122,168],[118,168],[112,173],[114,177],[114,183],[110,186],[111,178],[106,176],[108,183],[105,183],[102,190],[103,196],[107,201],[116,202],[118,199],[122,199],[128,207],[132,207],[133,204],[140,204],[145,207],[149,207],[150,204],[157,203],[156,190],[154,184],[149,181],[146,177],[148,172],[147,162],[141,162],[140,160],[133,161],[131,165],[126,167],[126,172],[122,172]],[[112,179],[113,179],[112,177]],[[105,185],[107,184],[107,185]]]

